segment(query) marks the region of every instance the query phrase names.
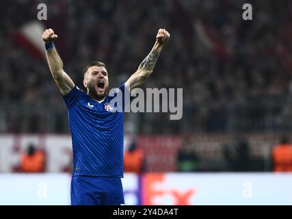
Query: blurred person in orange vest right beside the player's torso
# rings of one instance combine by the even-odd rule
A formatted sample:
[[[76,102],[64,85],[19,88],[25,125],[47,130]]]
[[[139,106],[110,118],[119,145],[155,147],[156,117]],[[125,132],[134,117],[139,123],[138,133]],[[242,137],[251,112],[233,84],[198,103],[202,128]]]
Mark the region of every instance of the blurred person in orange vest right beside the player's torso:
[[[144,151],[132,142],[129,149],[124,152],[124,172],[142,173],[146,168]]]

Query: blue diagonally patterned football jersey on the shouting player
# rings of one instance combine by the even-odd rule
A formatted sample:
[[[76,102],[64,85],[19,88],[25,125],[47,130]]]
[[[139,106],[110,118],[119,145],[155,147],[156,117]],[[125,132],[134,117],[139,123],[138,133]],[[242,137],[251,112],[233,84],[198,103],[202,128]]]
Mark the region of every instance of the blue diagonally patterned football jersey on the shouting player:
[[[124,97],[124,83],[119,89]],[[63,98],[72,136],[73,176],[123,177],[124,113],[111,112],[114,96],[99,103],[75,86]]]

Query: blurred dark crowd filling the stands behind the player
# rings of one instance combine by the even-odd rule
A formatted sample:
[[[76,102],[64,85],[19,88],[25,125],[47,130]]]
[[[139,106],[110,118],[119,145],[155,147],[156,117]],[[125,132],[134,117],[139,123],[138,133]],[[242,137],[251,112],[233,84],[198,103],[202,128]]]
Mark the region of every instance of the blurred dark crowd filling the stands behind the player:
[[[257,125],[260,131],[291,127],[291,1],[252,1],[253,20],[243,21],[244,1],[4,0],[1,132],[68,132],[66,107],[47,63],[31,57],[11,37],[23,24],[37,20],[38,3],[47,4],[48,20],[41,22],[59,36],[56,47],[64,69],[79,88],[82,70],[93,60],[107,64],[110,87],[117,87],[148,54],[157,29],[170,30],[171,40],[144,88],[183,88],[183,118],[129,114],[130,130],[250,131],[252,122],[242,126],[240,118],[252,120],[265,112],[274,122]],[[53,112],[52,129],[42,109]]]

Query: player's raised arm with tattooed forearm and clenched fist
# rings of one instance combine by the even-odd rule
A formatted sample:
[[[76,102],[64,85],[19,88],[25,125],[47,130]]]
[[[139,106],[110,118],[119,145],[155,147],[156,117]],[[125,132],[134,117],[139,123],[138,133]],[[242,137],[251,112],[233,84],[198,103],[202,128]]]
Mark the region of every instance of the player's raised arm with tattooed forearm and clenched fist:
[[[132,90],[133,88],[138,88],[142,86],[142,84],[148,79],[151,75],[153,68],[157,62],[159,54],[162,51],[163,44],[168,41],[170,38],[170,34],[165,29],[159,29],[156,42],[150,51],[150,53],[146,56],[146,58],[141,62],[140,66],[136,70],[133,75],[126,81],[125,86]]]

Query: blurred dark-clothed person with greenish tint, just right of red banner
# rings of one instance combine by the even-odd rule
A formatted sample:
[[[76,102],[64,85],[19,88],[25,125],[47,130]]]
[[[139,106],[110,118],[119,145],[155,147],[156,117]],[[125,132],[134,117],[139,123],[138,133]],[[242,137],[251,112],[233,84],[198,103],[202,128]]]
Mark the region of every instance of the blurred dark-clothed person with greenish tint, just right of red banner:
[[[176,155],[177,170],[191,172],[198,170],[198,156],[191,147],[191,141],[187,138]]]

